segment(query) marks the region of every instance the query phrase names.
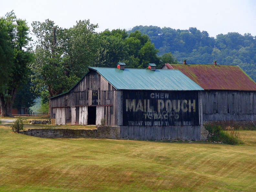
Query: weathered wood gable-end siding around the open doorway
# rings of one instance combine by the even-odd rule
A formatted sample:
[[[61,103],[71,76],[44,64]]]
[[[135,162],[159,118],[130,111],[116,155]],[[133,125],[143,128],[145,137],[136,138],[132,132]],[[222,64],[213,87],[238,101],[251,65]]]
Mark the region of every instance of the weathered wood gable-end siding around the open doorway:
[[[117,97],[119,99],[116,99]],[[68,108],[66,109],[66,123],[85,123],[79,120],[80,111],[83,111],[83,108],[79,108],[101,106],[99,113],[96,112],[97,123],[101,124],[100,121],[104,118],[105,125],[118,125],[121,115],[117,112],[120,108],[117,104],[120,105],[120,98],[120,91],[117,91],[99,73],[91,70],[71,91],[51,99],[51,118],[55,118],[56,109],[65,107]],[[75,111],[74,107],[76,107]]]

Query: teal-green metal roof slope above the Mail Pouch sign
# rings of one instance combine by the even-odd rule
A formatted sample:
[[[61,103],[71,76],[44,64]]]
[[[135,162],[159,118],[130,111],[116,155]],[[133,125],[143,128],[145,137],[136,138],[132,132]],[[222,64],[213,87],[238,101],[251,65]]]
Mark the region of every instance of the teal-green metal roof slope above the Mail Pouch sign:
[[[204,90],[179,70],[88,68],[100,73],[118,90]]]

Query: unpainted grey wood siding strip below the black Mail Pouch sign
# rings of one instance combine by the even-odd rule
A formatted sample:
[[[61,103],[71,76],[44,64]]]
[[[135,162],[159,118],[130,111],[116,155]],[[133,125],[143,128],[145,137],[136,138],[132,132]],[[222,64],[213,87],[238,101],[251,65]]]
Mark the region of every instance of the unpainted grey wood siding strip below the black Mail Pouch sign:
[[[197,126],[121,126],[121,139],[140,140],[200,140],[201,129]]]

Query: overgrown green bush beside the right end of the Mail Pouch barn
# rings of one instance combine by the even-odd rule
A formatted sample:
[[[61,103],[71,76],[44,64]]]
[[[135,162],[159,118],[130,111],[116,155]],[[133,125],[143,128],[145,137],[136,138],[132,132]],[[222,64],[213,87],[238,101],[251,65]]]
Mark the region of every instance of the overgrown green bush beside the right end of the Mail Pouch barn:
[[[222,142],[232,145],[244,143],[244,137],[240,135],[239,131],[234,130],[233,127],[227,127],[227,131],[224,131],[219,125],[207,125],[206,129],[211,135],[208,138],[210,141]]]

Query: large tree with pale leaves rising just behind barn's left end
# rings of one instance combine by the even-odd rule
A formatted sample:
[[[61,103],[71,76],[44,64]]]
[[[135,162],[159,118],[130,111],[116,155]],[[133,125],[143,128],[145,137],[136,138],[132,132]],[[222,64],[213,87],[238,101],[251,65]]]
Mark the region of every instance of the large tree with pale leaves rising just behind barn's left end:
[[[67,91],[95,60],[98,42],[94,29],[97,25],[83,20],[63,29],[47,19],[33,22],[32,27],[37,42],[35,62],[30,67],[36,90],[48,92],[50,97]]]

